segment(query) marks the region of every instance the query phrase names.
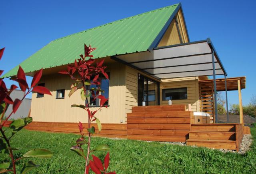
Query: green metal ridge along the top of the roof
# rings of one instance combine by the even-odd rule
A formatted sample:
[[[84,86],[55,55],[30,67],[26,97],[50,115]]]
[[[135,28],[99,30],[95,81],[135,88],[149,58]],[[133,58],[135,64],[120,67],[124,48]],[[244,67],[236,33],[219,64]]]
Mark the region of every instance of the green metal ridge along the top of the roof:
[[[67,38],[67,37],[73,36],[73,35],[75,35],[75,34],[79,34],[79,33],[86,32],[86,31],[88,31],[88,30],[93,30],[93,29],[96,29],[96,28],[100,28],[100,27],[102,27],[102,26],[106,26],[106,25],[109,25],[109,24],[112,24],[112,23],[115,23],[115,22],[119,22],[119,21],[122,21],[122,20],[129,19],[129,18],[134,18],[135,16],[141,16],[141,15],[143,15],[143,14],[147,14],[147,13],[150,13],[150,12],[155,12],[155,11],[158,11],[158,10],[162,10],[162,9],[164,9],[164,8],[170,8],[170,7],[172,7],[172,6],[178,6],[179,4],[180,4],[180,3],[172,4],[172,5],[170,5],[170,6],[158,8],[158,9],[155,9],[155,10],[150,10],[150,11],[148,11],[148,12],[144,12],[144,13],[141,13],[141,14],[136,14],[136,15],[134,15],[134,16],[122,18],[122,19],[119,19],[119,20],[115,20],[115,21],[113,21],[113,22],[108,22],[108,23],[102,24],[102,25],[100,25],[100,26],[96,26],[96,27],[93,27],[93,28],[89,28],[89,29],[86,29],[86,30],[83,30],[83,31],[80,31],[80,32],[76,32],[76,33],[73,33],[73,34],[69,34],[69,35],[64,36],[64,37],[62,37],[62,38],[58,38],[58,39],[52,40],[52,41],[49,42],[49,44],[50,44],[51,42],[55,42],[55,41],[57,41],[57,40],[60,40],[60,39],[63,39],[63,38]]]

